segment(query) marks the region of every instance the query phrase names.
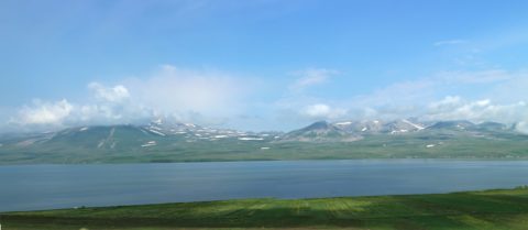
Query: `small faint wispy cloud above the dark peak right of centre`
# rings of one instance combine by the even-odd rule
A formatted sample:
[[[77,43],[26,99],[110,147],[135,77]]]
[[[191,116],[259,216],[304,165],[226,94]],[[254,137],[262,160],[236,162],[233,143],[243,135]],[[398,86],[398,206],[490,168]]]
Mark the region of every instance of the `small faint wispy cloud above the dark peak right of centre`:
[[[295,72],[298,76],[297,80],[289,86],[292,91],[301,91],[310,86],[326,83],[332,75],[338,74],[337,70],[327,68],[308,68]]]

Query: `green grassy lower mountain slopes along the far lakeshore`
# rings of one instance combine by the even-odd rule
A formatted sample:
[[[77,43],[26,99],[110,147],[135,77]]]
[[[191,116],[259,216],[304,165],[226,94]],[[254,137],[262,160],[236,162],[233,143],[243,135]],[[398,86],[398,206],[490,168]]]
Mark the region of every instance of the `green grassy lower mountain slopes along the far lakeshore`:
[[[116,131],[116,134],[125,132]],[[148,162],[213,162],[267,160],[337,160],[337,158],[528,158],[528,135],[495,133],[484,136],[454,131],[427,131],[400,135],[372,135],[355,142],[273,142],[218,140],[188,143],[178,136],[164,138],[119,135],[97,147],[90,144],[57,140],[28,147],[0,147],[2,164],[86,164]],[[106,138],[106,134],[103,138]],[[75,139],[77,140],[77,139]],[[141,147],[147,141],[156,146]],[[113,146],[113,143],[117,143]],[[427,147],[433,144],[433,147]],[[109,146],[107,146],[109,145]],[[266,149],[262,149],[266,147]],[[267,149],[268,147],[268,149]]]

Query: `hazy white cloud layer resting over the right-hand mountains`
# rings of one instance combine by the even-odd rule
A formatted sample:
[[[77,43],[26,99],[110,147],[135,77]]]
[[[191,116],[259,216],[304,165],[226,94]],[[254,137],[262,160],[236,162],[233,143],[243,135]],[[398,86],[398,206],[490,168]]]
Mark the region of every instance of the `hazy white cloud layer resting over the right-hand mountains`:
[[[528,74],[485,69],[441,72],[340,100],[289,97],[279,106],[305,120],[363,120],[417,117],[421,120],[470,120],[518,123],[528,121]],[[294,120],[290,118],[290,120]],[[528,125],[526,125],[528,127]]]

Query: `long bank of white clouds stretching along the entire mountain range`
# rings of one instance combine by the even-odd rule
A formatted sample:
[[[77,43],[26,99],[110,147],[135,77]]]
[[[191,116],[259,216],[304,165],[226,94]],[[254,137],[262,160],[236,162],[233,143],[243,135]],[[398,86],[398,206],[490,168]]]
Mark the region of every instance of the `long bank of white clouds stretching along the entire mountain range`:
[[[184,69],[163,65],[146,76],[118,84],[89,83],[85,102],[35,99],[13,112],[4,124],[22,130],[58,129],[85,124],[139,123],[155,117],[208,125],[243,127],[241,118],[256,118],[251,130],[282,130],[282,123],[316,120],[398,119],[471,120],[518,123],[528,131],[528,75],[501,69],[446,72],[432,77],[393,83],[365,95],[338,99],[315,96],[312,88],[339,85],[338,70],[308,68],[295,72],[279,95],[262,99],[264,78]],[[471,91],[471,94],[468,94]],[[261,110],[255,110],[258,103]],[[262,111],[266,111],[263,114]],[[294,123],[295,123],[294,122]],[[240,124],[242,123],[242,124]],[[298,125],[295,123],[295,125]],[[276,124],[276,125],[274,125]],[[266,127],[270,125],[270,127]],[[285,125],[283,129],[290,129]]]

